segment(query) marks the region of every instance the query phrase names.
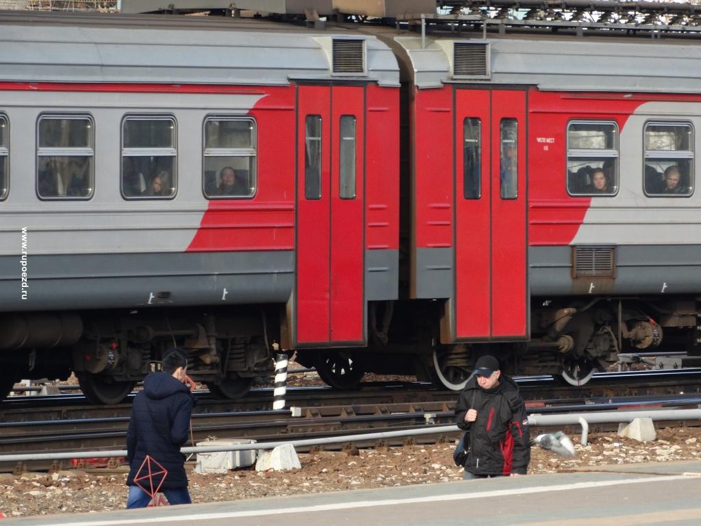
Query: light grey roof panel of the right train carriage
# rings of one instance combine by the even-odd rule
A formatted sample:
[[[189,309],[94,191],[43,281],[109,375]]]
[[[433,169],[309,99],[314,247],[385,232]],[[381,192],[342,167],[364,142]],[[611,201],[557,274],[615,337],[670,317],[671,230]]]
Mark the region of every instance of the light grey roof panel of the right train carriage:
[[[445,83],[537,86],[541,90],[701,93],[701,53],[693,42],[639,39],[543,39],[505,36],[489,39],[426,39],[396,36],[417,88]],[[454,42],[486,43],[485,74],[454,76]]]

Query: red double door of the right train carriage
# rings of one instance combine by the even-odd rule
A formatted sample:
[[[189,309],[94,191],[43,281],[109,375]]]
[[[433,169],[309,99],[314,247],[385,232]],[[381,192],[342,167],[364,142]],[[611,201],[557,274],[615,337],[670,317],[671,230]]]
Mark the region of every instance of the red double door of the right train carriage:
[[[456,339],[528,337],[526,93],[456,90]]]

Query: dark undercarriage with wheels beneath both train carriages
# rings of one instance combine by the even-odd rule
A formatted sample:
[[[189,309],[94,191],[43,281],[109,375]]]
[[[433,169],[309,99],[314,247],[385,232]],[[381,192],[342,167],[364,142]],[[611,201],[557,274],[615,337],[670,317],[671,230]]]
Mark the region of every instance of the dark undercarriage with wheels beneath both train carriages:
[[[619,353],[701,354],[695,298],[536,299],[529,342],[442,344],[443,308],[440,301],[373,302],[367,347],[300,349],[296,359],[316,367],[336,389],[351,389],[372,372],[416,375],[459,390],[487,353],[510,375],[553,375],[572,385],[587,383]],[[64,379],[73,371],[90,402],[119,403],[179,346],[189,353],[194,381],[219,398],[240,398],[257,377],[273,374],[282,312],[279,306],[240,306],[6,315],[0,321],[0,396],[20,378]]]

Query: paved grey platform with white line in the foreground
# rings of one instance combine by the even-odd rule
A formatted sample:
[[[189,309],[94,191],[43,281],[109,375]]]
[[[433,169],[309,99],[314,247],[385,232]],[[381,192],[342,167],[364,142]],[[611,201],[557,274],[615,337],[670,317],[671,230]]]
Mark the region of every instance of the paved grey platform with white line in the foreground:
[[[126,494],[126,492],[125,492]],[[701,461],[2,520],[2,526],[699,526]]]

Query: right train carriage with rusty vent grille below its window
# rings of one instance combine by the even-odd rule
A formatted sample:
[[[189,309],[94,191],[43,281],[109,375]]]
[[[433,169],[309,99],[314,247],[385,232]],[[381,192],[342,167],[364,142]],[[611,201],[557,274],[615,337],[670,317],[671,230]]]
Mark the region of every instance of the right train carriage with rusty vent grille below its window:
[[[696,353],[695,43],[395,42],[410,100],[409,295],[440,320],[437,381],[459,389],[486,352],[570,384],[663,333]]]

